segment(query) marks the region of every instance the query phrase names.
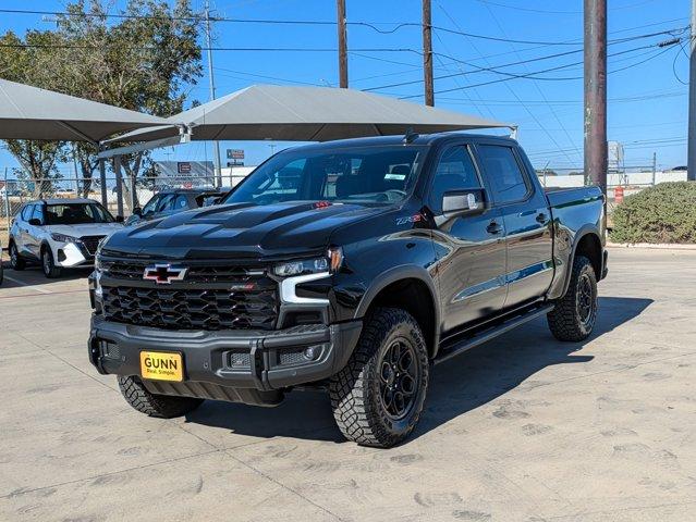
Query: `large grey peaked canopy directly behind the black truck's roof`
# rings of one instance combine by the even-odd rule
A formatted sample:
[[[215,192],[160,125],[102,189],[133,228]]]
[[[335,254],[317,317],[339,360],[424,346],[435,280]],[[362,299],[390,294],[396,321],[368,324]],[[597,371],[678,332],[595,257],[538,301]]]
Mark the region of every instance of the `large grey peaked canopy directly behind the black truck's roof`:
[[[254,85],[168,119],[171,126],[135,130],[109,142],[176,137],[193,140],[327,141],[514,126],[353,89]]]

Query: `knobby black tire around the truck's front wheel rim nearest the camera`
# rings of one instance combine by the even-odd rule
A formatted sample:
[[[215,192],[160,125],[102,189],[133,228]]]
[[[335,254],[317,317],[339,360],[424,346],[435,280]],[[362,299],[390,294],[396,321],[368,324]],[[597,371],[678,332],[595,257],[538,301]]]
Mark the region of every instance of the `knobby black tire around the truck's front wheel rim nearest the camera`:
[[[399,420],[390,417],[380,395],[380,366],[384,363],[381,358],[394,341],[410,344],[418,369],[411,407]],[[418,323],[403,310],[376,309],[366,319],[347,364],[329,384],[333,418],[343,436],[361,446],[377,448],[389,448],[404,440],[423,411],[428,376],[428,350]]]

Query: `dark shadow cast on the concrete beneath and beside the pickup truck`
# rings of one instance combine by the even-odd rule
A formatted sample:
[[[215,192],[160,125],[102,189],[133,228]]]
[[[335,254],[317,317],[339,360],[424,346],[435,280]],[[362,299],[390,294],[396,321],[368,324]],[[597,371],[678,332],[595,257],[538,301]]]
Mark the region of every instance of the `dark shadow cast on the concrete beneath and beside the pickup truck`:
[[[639,315],[652,299],[601,297],[591,339]],[[498,339],[435,366],[420,422],[410,440],[504,395],[535,374],[557,364],[583,364],[594,357],[578,353],[585,343],[555,340],[545,319],[528,323]],[[542,381],[535,384],[545,385]],[[291,437],[344,442],[333,423],[327,394],[296,391],[271,409],[225,402],[205,402],[187,422],[261,438]],[[407,444],[407,442],[405,443]]]

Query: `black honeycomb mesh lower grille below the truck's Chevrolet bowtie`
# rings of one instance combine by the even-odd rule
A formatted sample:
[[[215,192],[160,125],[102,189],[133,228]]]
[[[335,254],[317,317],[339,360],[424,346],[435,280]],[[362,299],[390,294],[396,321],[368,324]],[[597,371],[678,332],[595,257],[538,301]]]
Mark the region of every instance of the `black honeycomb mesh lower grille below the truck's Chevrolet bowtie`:
[[[278,318],[276,283],[257,277],[243,286],[102,286],[103,315],[108,321],[167,330],[272,330]]]

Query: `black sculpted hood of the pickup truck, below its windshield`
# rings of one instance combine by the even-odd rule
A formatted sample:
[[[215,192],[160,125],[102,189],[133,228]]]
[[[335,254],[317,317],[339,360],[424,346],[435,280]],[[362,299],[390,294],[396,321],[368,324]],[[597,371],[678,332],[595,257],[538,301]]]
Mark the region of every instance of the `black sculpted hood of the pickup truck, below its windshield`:
[[[113,234],[105,253],[169,259],[265,258],[323,251],[331,233],[392,207],[293,201],[206,207]]]

